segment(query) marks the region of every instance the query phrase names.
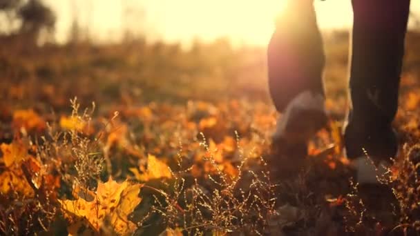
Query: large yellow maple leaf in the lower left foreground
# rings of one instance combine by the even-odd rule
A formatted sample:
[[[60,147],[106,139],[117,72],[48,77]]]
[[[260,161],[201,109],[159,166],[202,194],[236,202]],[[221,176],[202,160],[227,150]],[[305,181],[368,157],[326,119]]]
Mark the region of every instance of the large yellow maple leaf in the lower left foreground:
[[[118,184],[110,178],[106,183],[98,184],[93,201],[82,198],[75,201],[59,200],[66,217],[77,219],[70,224],[69,230],[77,232],[79,228],[86,226],[86,223],[83,223],[86,219],[88,226],[96,233],[99,233],[105,224],[111,224],[115,233],[130,235],[137,226],[128,219],[128,215],[142,200],[138,197],[140,188],[142,184],[131,184],[128,181]]]

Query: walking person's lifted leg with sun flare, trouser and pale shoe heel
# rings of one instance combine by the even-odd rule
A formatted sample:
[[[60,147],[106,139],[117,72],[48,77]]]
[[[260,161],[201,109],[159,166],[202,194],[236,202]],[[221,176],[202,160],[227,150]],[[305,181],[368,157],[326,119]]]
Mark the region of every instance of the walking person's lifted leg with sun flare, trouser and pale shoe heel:
[[[308,137],[327,120],[323,109],[323,42],[312,0],[290,0],[285,12],[300,14],[280,15],[268,46],[269,92],[282,113],[273,141],[284,148],[305,149]]]

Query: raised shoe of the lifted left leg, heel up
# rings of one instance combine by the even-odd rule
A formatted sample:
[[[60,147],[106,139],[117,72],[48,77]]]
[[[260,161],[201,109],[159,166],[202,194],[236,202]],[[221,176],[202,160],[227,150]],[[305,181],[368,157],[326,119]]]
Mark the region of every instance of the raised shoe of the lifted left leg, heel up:
[[[307,141],[326,124],[323,95],[308,90],[292,99],[272,135],[269,164],[273,177],[288,179],[300,173],[305,166]]]

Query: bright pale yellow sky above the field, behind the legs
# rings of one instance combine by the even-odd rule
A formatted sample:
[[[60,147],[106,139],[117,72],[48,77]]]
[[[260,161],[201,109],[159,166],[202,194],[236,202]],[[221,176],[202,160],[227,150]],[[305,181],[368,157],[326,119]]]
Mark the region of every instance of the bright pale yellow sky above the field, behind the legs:
[[[265,45],[285,0],[44,0],[57,12],[58,41],[73,19],[97,41],[118,41],[127,29],[148,39],[189,43],[229,37],[234,44]],[[398,1],[398,0],[396,0]],[[316,1],[323,30],[352,25],[350,0]],[[412,1],[420,10],[420,1]],[[304,17],[304,16],[303,16]]]

